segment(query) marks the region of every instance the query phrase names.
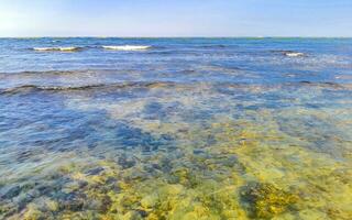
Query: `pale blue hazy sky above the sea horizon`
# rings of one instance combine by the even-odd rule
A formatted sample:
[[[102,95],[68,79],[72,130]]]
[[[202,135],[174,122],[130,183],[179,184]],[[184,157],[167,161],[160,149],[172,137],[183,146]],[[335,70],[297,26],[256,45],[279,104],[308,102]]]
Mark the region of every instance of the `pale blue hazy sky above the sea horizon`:
[[[0,0],[0,36],[352,36],[352,0]]]

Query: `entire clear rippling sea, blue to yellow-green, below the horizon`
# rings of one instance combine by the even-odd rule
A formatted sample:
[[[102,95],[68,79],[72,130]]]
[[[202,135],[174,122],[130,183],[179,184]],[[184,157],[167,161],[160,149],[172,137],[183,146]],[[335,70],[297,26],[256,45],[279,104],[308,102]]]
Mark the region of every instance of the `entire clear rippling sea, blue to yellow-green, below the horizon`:
[[[351,38],[0,40],[0,219],[351,219]]]

